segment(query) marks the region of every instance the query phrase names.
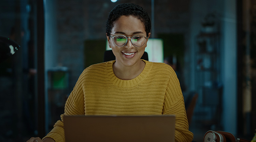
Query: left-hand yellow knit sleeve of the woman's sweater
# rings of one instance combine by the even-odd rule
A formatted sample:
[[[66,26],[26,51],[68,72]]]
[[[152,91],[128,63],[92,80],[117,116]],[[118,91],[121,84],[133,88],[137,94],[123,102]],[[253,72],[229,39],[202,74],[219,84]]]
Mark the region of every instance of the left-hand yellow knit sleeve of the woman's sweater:
[[[84,93],[83,93],[83,75],[76,82],[73,91],[70,93],[64,109],[64,114],[60,115],[61,120],[54,124],[54,128],[43,138],[52,138],[55,142],[65,142],[64,115],[84,115]]]

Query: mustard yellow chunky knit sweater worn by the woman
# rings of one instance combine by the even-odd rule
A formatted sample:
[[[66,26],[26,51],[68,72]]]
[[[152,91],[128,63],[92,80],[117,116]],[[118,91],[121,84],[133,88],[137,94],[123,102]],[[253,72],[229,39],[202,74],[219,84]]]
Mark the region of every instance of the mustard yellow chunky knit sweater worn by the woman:
[[[142,73],[121,80],[113,72],[115,61],[91,65],[80,75],[66,101],[61,120],[44,138],[65,142],[63,115],[161,115],[175,114],[175,141],[191,142],[179,80],[164,63],[143,60]]]

